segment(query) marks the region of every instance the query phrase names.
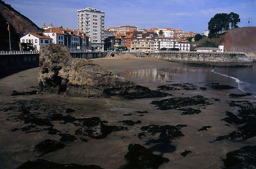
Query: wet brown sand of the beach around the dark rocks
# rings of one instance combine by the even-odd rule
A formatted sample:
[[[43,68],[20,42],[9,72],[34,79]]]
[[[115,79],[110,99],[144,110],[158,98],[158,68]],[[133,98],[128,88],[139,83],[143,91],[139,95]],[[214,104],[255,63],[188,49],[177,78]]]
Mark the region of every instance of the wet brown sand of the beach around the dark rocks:
[[[184,77],[181,79],[171,78],[166,82],[163,77],[162,81],[151,81],[148,79],[137,79],[129,74],[131,70],[138,68],[148,68],[149,70],[152,68],[171,68],[177,66],[176,63],[162,60],[151,58],[99,58],[95,59],[94,62],[99,63],[104,68],[108,68],[114,74],[121,75],[121,72],[127,72],[127,75],[124,73],[124,76],[127,77],[126,79],[143,84],[153,90],[157,90],[157,86],[162,84],[178,83],[178,80],[185,80]],[[168,158],[170,162],[160,165],[159,169],[222,168],[223,162],[221,158],[225,158],[227,152],[240,149],[246,145],[255,145],[256,138],[250,138],[247,141],[241,142],[228,140],[210,142],[214,141],[219,135],[227,135],[236,130],[236,126],[227,126],[227,122],[221,121],[221,119],[227,117],[225,111],[236,112],[239,109],[236,106],[229,106],[229,101],[248,100],[255,102],[255,98],[229,98],[229,90],[197,89],[167,91],[173,97],[203,95],[211,103],[209,105],[189,106],[192,109],[200,109],[200,114],[181,115],[182,111],[177,109],[162,111],[151,104],[151,101],[159,101],[162,98],[123,100],[118,97],[82,98],[46,93],[42,95],[11,95],[13,90],[18,92],[38,90],[38,71],[39,68],[33,68],[0,79],[0,168],[17,168],[24,162],[37,159],[61,164],[98,165],[105,169],[120,168],[126,164],[124,155],[128,152],[129,144],[141,144],[146,148],[153,146],[145,145],[148,138],[138,138],[138,133],[142,132],[140,127],[148,125],[187,125],[187,127],[181,128],[184,136],[172,140],[170,145],[174,149],[163,154],[163,157]],[[239,91],[233,90],[233,92],[238,93]],[[75,111],[66,113],[65,110],[68,108]],[[48,131],[43,130],[47,126],[35,126],[27,130],[29,133],[21,130],[21,128],[27,127],[29,124],[25,124],[22,120],[18,119],[20,109],[28,109],[34,114],[39,114],[41,117],[48,116],[49,111],[53,110],[75,118],[99,117],[102,121],[107,121],[108,125],[124,126],[128,127],[128,130],[110,133],[106,138],[89,138],[87,142],[83,142],[80,139],[70,141],[64,143],[67,145],[64,149],[59,149],[39,157],[34,152],[35,145],[45,139],[59,141],[61,136],[59,134],[49,135]],[[148,113],[142,116],[142,114],[136,111],[148,111]],[[120,122],[123,120],[135,122],[140,120],[141,123],[127,126]],[[79,127],[72,122],[63,124],[63,122],[53,121],[52,123],[54,128],[59,130],[59,133],[68,133],[69,135],[75,135],[75,130]],[[211,126],[211,128],[198,131],[203,126]],[[181,153],[185,150],[192,153],[183,157]],[[160,152],[154,152],[154,154],[160,154]]]

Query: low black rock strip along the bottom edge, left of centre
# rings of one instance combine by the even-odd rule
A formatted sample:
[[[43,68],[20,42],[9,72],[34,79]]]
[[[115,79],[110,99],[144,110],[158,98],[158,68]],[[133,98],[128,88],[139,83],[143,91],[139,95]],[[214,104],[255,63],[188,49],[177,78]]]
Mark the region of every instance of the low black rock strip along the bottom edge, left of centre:
[[[17,169],[102,169],[96,165],[76,165],[76,164],[57,164],[54,162],[49,162],[47,160],[38,159],[35,161],[25,162],[23,165],[20,165]]]

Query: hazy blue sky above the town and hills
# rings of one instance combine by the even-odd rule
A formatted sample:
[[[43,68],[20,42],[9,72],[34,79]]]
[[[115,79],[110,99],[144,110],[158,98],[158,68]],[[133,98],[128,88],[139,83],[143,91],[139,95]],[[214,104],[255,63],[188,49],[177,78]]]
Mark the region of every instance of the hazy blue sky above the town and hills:
[[[256,26],[256,0],[3,0],[40,28],[42,23],[78,29],[77,10],[97,7],[105,12],[105,28],[137,25],[138,28],[178,28],[203,33],[217,13],[240,15],[239,27],[252,18]]]

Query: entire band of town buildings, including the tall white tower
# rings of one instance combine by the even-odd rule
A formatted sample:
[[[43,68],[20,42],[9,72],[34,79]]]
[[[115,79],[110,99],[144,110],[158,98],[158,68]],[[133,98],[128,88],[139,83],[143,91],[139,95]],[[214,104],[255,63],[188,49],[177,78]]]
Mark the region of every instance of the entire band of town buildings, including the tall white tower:
[[[78,10],[78,30],[55,28],[42,23],[42,33],[20,37],[20,50],[39,51],[43,44],[64,44],[69,50],[116,50],[157,52],[159,50],[190,51],[197,33],[174,28],[138,29],[135,25],[105,28],[105,12],[87,7]],[[208,36],[208,30],[203,33]]]

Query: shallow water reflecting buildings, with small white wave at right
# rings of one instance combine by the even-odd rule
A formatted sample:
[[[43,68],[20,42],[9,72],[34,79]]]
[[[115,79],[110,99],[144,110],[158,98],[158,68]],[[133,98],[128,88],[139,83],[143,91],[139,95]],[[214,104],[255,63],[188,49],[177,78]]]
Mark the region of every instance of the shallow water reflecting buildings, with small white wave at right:
[[[211,83],[227,84],[237,87],[242,93],[256,97],[256,64],[252,67],[197,67],[172,65],[165,68],[140,68],[116,73],[126,79],[144,82],[181,82],[205,87]],[[239,93],[237,90],[230,92]]]

